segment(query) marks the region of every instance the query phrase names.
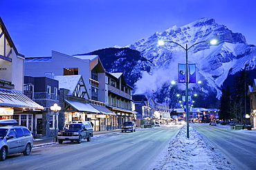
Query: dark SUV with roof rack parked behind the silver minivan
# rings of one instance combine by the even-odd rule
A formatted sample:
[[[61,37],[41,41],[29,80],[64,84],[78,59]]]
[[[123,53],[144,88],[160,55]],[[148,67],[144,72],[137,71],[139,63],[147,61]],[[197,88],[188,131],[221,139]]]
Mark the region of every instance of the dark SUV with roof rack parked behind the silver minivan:
[[[57,139],[60,144],[64,140],[81,143],[82,139],[87,139],[87,142],[91,141],[91,137],[93,137],[91,123],[89,121],[78,121],[66,124],[62,130],[58,131]]]

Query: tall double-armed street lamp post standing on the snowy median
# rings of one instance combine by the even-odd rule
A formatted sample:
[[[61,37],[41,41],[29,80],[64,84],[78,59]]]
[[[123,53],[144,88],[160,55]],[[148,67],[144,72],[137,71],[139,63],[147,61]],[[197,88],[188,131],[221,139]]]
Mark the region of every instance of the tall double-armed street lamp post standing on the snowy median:
[[[187,138],[190,138],[190,118],[189,118],[189,111],[188,111],[188,84],[189,84],[189,72],[188,72],[188,50],[190,50],[191,47],[194,47],[194,45],[197,45],[199,43],[211,43],[212,45],[217,43],[216,39],[212,39],[211,41],[200,41],[198,43],[195,43],[194,45],[191,45],[190,47],[188,47],[188,44],[185,45],[185,47],[183,47],[182,45],[180,45],[179,43],[176,43],[174,41],[158,41],[158,45],[164,45],[165,42],[167,43],[175,43],[176,45],[179,45],[180,47],[183,48],[183,50],[185,50],[185,100],[186,100],[186,120],[187,120]]]

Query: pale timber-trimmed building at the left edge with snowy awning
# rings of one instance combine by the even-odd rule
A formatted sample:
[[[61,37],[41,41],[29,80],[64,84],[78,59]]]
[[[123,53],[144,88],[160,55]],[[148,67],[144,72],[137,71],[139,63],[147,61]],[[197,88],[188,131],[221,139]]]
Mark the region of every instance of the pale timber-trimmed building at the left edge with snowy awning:
[[[23,94],[24,59],[0,18],[0,120],[14,118],[33,131],[34,114],[44,107]]]

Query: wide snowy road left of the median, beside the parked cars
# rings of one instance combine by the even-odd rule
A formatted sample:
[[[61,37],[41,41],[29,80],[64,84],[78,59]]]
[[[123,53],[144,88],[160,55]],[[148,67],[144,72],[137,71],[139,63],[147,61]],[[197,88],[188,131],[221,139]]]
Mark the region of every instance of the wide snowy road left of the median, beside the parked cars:
[[[81,144],[63,142],[33,149],[0,162],[1,169],[148,169],[181,125],[93,137]]]

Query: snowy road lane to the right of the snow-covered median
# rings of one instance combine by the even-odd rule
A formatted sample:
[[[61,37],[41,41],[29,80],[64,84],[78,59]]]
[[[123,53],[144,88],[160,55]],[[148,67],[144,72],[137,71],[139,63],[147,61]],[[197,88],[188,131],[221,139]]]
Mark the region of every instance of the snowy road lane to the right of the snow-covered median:
[[[229,129],[229,126],[209,126],[208,124],[192,125],[196,131],[205,136],[212,145],[220,149],[241,169],[256,167],[256,136],[252,131]]]

